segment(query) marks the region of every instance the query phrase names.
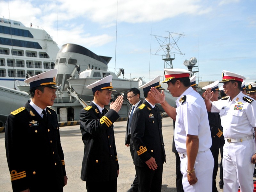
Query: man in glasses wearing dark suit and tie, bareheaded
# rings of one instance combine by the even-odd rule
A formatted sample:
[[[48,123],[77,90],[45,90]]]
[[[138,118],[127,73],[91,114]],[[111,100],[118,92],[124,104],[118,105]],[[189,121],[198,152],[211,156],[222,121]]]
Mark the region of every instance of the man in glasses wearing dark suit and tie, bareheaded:
[[[132,134],[131,122],[132,122],[132,116],[133,116],[134,110],[136,108],[138,108],[140,106],[140,104],[142,104],[142,102],[140,101],[140,90],[135,87],[128,90],[127,99],[132,104],[132,107],[130,108],[129,113],[128,113],[129,115],[128,115],[127,126],[126,126],[125,145],[127,147],[130,147],[130,152],[131,152],[132,160],[133,160],[134,152],[136,152],[136,149],[135,149],[134,144],[131,139],[131,134]],[[139,187],[139,184],[138,184],[138,180],[137,180],[137,174],[135,174],[131,188],[128,189],[127,192],[137,192],[138,187]]]

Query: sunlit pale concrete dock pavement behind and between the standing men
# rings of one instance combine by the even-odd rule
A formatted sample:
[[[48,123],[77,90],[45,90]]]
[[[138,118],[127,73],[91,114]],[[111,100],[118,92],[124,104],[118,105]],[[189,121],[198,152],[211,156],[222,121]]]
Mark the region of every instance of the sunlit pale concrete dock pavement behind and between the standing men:
[[[120,167],[117,178],[117,192],[126,192],[130,188],[135,175],[130,149],[124,145],[125,129],[126,121],[117,121],[114,123],[116,150]],[[166,164],[164,163],[163,168],[162,192],[176,192],[176,159],[175,154],[172,152],[173,123],[170,117],[163,118],[162,131],[166,153]],[[84,144],[79,125],[60,127],[60,139],[68,176],[68,183],[64,187],[64,192],[86,192],[86,183],[80,179]],[[10,173],[5,155],[4,132],[0,132],[0,146],[0,162],[2,162],[0,168],[0,191],[12,192]],[[219,189],[219,175],[220,168],[216,178],[216,185],[218,191],[222,192],[223,190]]]

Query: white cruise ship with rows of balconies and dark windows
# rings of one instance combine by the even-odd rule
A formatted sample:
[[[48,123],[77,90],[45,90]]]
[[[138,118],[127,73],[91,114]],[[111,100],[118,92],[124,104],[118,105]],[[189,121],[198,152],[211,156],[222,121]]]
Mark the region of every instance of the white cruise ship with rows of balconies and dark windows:
[[[58,45],[44,29],[0,18],[0,85],[17,88],[28,74],[53,69],[58,51]]]

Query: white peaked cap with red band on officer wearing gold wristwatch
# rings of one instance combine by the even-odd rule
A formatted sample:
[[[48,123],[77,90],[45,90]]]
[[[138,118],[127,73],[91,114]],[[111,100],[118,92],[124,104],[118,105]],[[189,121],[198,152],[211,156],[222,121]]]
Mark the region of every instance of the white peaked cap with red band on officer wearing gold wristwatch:
[[[168,81],[171,81],[172,79],[189,77],[190,76],[189,74],[192,74],[192,72],[188,71],[186,69],[165,68],[164,69],[165,80],[162,83],[167,83]]]

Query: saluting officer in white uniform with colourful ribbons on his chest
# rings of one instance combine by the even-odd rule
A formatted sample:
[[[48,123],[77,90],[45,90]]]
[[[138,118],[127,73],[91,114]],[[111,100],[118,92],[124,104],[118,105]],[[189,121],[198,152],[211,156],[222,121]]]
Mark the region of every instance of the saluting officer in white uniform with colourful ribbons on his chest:
[[[223,70],[222,81],[227,97],[211,102],[213,92],[204,93],[206,108],[219,112],[225,144],[223,147],[224,192],[253,191],[253,168],[256,150],[253,131],[256,129],[256,101],[245,96],[241,84],[245,77]]]

